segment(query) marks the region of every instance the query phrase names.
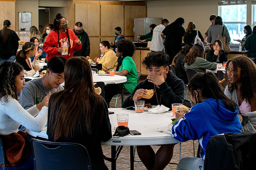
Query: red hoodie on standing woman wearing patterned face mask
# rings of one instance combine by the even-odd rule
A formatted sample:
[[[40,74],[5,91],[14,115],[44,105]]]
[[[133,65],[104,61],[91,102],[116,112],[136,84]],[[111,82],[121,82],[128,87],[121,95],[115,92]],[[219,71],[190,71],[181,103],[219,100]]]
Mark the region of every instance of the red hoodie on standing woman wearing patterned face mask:
[[[74,54],[74,51],[79,51],[82,48],[82,44],[77,45],[76,41],[79,40],[74,31],[68,28],[68,35],[70,39],[69,49],[68,49],[68,55],[61,55],[61,53],[58,53],[59,43],[58,43],[58,33],[59,33],[59,39],[60,39],[60,47],[62,46],[63,42],[68,42],[67,33],[60,33],[58,30],[51,31],[43,45],[44,52],[47,53],[46,60],[49,61],[52,57],[55,56],[63,56],[67,58],[71,58]]]

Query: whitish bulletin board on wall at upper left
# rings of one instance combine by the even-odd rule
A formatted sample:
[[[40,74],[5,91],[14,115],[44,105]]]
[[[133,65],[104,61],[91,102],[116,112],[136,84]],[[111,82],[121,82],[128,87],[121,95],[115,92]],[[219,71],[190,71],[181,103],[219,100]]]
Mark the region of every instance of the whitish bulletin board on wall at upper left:
[[[31,27],[31,12],[19,12],[19,31],[29,31]]]

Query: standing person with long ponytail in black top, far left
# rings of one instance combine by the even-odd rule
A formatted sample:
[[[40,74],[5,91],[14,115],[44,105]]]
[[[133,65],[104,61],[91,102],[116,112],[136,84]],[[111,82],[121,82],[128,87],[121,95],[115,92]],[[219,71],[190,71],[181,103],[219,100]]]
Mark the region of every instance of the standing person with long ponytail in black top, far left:
[[[12,31],[11,22],[4,20],[4,27],[0,30],[0,63],[4,61],[14,61],[19,47],[20,38]]]

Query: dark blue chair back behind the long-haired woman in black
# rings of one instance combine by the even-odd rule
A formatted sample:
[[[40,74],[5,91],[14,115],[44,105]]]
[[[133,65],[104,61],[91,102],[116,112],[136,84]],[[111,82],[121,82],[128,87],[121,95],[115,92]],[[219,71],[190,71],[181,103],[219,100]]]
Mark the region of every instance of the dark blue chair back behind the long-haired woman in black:
[[[88,152],[81,144],[49,142],[38,139],[31,139],[31,144],[36,170],[92,169]]]

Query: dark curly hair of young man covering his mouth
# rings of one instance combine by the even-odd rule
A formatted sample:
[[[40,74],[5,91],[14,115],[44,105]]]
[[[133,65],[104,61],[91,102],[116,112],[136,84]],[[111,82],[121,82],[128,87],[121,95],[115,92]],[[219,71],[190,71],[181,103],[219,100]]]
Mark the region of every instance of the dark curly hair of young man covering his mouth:
[[[151,52],[142,60],[142,65],[147,70],[150,66],[166,67],[169,63],[169,55],[164,51]]]

